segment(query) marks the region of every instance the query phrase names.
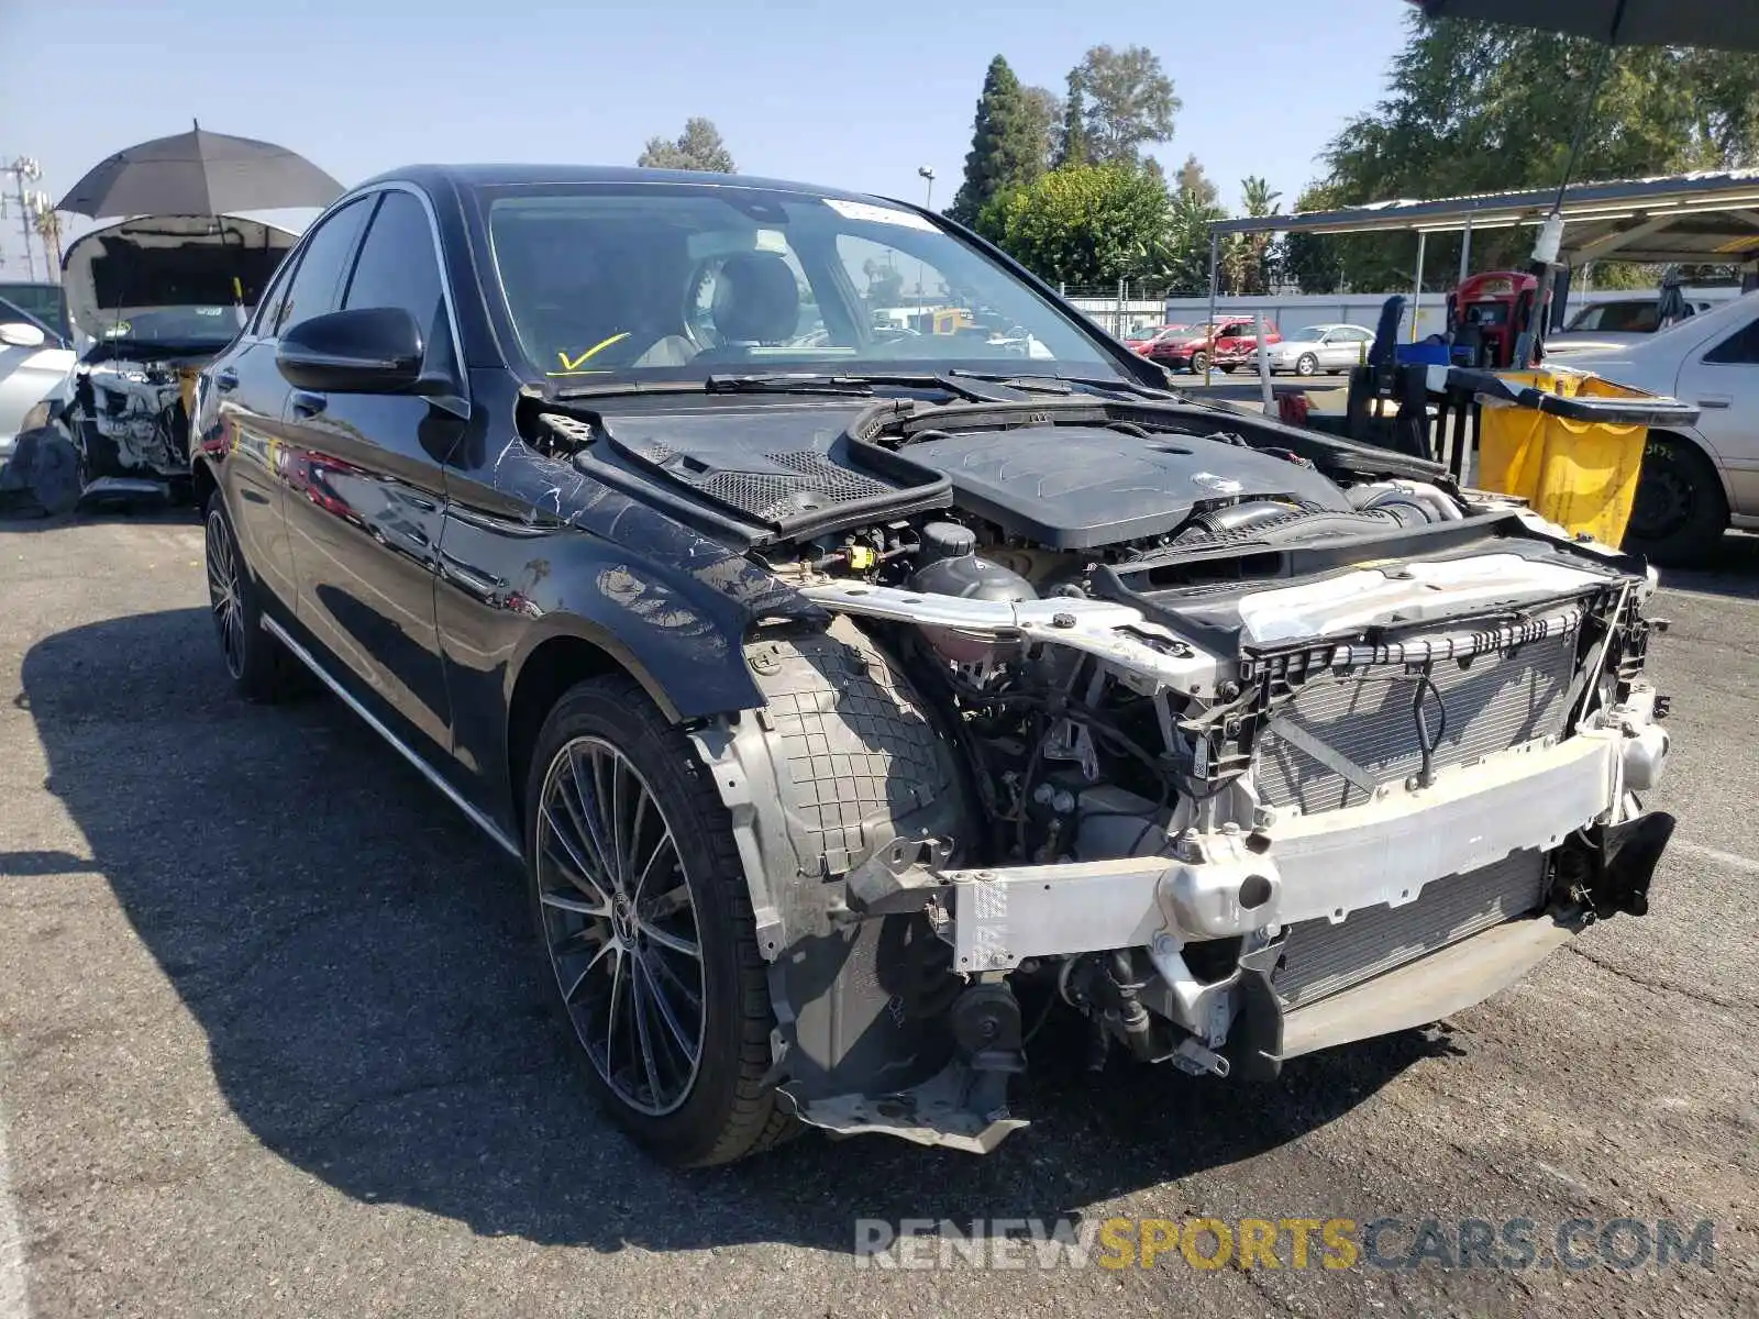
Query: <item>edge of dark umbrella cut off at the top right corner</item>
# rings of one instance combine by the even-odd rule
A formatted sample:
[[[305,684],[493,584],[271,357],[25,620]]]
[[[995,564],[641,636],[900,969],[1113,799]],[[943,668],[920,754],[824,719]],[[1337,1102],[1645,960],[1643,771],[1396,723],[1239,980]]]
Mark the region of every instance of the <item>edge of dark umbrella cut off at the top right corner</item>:
[[[1759,5],[1741,0],[1411,0],[1430,18],[1483,18],[1608,46],[1759,51]]]

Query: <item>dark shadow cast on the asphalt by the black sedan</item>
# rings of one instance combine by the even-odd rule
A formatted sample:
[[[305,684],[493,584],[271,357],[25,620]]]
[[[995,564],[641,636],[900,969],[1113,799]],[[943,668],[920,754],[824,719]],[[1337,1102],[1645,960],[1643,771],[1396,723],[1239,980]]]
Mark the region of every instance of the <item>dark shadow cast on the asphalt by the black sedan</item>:
[[[1077,1052],[985,1159],[807,1133],[734,1168],[656,1168],[575,1071],[505,855],[338,702],[236,698],[209,633],[186,608],[47,637],[23,703],[232,1111],[359,1201],[600,1250],[848,1252],[860,1217],[1082,1217],[1296,1140],[1448,1048],[1407,1032],[1263,1087],[1128,1064],[1092,1080]],[[62,858],[39,860],[28,883],[51,885]]]

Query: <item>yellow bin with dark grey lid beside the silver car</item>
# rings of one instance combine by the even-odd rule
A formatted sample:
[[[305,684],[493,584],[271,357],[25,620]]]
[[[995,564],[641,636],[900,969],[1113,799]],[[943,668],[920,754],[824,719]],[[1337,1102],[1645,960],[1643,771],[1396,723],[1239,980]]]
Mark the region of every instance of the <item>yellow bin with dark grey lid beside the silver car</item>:
[[[1631,521],[1652,426],[1690,426],[1697,408],[1588,371],[1451,371],[1471,389],[1481,489],[1525,498],[1536,514],[1618,545]]]

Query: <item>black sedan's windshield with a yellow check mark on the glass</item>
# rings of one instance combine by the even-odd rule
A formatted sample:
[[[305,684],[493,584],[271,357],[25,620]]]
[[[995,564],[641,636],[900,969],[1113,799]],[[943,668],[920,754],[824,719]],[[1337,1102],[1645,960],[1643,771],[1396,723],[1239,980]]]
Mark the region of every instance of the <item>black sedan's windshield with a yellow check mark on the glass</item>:
[[[1069,317],[915,211],[721,185],[480,197],[519,346],[559,385],[960,366],[1117,375]]]

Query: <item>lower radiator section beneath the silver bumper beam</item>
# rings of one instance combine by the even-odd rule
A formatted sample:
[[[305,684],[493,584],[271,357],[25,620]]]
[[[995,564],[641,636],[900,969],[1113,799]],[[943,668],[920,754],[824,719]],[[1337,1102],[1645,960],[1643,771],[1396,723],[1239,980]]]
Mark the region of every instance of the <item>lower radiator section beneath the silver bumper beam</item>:
[[[1289,1006],[1316,1002],[1425,953],[1523,916],[1544,900],[1544,853],[1516,851],[1481,871],[1425,885],[1414,902],[1289,927],[1272,978]]]

